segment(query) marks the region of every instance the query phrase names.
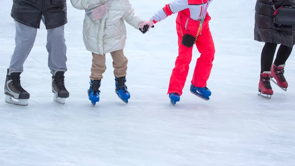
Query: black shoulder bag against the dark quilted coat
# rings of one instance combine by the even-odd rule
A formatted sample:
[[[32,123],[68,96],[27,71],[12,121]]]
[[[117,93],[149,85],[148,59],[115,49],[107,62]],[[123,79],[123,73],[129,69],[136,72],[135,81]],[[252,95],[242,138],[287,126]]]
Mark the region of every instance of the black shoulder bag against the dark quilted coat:
[[[293,1],[286,1],[282,4],[281,7],[275,8],[274,3],[272,0],[268,0],[271,3],[272,8],[274,9],[273,13],[273,23],[276,26],[295,26],[295,7],[284,6],[286,2]]]

